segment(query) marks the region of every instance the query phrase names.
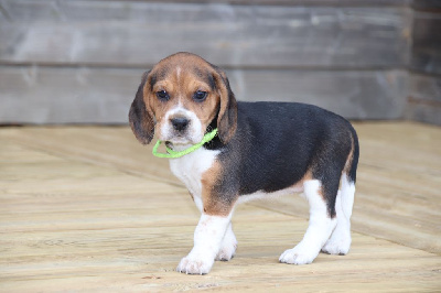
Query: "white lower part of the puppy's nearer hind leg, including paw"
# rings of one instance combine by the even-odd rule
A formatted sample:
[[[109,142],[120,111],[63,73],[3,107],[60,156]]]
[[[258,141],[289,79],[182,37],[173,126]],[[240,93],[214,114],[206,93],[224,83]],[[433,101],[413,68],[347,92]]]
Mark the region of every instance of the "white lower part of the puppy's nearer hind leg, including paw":
[[[323,194],[321,182],[318,180],[306,181],[304,183],[304,195],[310,204],[308,230],[299,245],[280,256],[280,262],[311,263],[335,228],[336,219],[332,218],[332,213],[329,213],[329,204]]]

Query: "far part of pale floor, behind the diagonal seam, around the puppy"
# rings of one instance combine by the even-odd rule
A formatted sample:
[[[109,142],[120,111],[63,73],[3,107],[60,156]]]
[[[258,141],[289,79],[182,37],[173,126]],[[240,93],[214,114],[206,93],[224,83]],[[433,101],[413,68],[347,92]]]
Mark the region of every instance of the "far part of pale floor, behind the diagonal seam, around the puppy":
[[[355,123],[355,128],[361,163],[353,229],[440,253],[440,238],[433,237],[441,235],[440,128],[407,122]],[[152,146],[139,144],[128,128],[24,128],[3,133],[71,160],[182,187],[169,162],[151,155]],[[308,218],[308,205],[297,196],[252,205]]]

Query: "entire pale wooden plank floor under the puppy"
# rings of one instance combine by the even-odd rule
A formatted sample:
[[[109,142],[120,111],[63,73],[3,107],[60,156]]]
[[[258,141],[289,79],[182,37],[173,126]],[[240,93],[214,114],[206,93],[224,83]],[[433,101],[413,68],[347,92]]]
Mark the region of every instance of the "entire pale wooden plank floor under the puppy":
[[[174,272],[196,208],[127,128],[2,128],[0,292],[441,291],[441,129],[355,126],[349,254],[278,263],[308,226],[303,199],[290,196],[240,206],[236,258],[204,276]]]

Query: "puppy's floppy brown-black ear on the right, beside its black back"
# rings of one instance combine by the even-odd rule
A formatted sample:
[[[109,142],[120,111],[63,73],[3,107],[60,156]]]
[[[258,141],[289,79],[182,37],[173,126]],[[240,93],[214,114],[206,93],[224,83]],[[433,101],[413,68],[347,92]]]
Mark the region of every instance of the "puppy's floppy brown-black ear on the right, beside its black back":
[[[224,72],[216,69],[216,88],[220,95],[220,107],[217,117],[217,133],[223,143],[227,143],[236,132],[237,128],[237,102],[229,82]]]

